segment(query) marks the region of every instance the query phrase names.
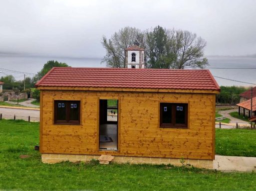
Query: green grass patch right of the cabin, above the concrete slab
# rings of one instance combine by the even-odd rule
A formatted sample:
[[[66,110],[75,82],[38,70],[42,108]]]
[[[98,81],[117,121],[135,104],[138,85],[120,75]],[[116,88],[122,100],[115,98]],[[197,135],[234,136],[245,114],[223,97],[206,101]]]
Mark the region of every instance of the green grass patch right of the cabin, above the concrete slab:
[[[216,129],[216,154],[256,157],[256,130]]]

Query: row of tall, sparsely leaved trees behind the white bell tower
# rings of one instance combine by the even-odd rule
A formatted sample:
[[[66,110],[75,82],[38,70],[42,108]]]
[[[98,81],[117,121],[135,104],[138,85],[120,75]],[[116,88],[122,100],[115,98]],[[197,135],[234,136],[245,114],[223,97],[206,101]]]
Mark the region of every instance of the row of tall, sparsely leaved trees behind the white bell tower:
[[[109,39],[103,36],[101,43],[106,50],[102,63],[107,67],[125,68],[125,48],[132,45],[145,49],[147,68],[184,69],[208,65],[204,56],[206,41],[187,30],[166,29],[159,25],[145,31],[124,27]]]

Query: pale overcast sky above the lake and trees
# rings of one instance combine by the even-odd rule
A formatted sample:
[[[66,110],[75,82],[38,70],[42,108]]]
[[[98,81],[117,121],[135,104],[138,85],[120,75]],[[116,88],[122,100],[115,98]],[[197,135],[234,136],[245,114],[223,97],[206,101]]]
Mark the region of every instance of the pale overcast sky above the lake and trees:
[[[206,55],[256,54],[256,0],[0,0],[0,52],[102,58],[102,35],[157,25],[197,33]]]

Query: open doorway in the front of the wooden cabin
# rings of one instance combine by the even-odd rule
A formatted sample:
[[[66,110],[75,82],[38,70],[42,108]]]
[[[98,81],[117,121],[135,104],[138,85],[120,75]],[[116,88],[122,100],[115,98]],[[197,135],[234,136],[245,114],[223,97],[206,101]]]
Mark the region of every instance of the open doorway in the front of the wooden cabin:
[[[100,99],[99,150],[117,150],[118,99]]]

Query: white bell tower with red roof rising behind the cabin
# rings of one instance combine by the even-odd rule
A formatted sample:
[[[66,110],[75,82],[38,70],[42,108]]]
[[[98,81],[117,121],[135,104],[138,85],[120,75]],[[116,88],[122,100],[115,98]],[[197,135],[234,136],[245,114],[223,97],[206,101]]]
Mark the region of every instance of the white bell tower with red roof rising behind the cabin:
[[[125,49],[126,68],[144,68],[144,49],[137,45]]]

